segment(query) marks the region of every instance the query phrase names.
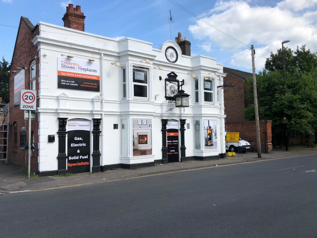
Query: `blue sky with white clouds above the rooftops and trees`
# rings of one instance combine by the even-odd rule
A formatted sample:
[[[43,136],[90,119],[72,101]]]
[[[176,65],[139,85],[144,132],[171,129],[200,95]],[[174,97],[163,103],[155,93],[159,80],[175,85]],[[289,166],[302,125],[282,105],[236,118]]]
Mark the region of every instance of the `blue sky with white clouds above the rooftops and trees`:
[[[171,39],[171,30],[172,40],[182,32],[182,37],[187,36],[191,42],[192,56],[210,56],[226,67],[247,72],[252,72],[251,44],[256,50],[257,71],[263,69],[271,51],[281,48],[283,40],[290,40],[285,46],[292,50],[306,44],[312,52],[317,51],[317,0],[0,0],[0,56],[11,61],[21,16],[34,25],[41,21],[63,26],[61,18],[68,3],[81,6],[86,32],[132,37],[151,42],[154,48]],[[209,25],[177,7],[177,3]]]

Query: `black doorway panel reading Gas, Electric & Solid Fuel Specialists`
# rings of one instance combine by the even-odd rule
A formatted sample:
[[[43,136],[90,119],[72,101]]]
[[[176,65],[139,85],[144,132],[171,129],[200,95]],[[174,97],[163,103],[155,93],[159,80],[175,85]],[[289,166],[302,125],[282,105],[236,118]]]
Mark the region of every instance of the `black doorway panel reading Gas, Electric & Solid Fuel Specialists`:
[[[90,121],[67,122],[67,171],[90,172]]]

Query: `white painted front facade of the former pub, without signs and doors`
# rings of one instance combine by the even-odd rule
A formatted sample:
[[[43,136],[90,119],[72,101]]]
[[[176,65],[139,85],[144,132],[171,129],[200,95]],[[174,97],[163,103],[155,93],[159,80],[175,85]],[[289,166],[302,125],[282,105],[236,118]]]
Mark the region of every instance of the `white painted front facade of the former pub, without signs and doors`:
[[[91,128],[93,118],[102,119],[101,168],[110,168],[111,165],[119,164],[150,164],[162,160],[162,119],[186,120],[184,131],[186,158],[219,158],[225,153],[223,89],[218,87],[223,85],[225,75],[223,65],[217,63],[216,59],[206,56],[184,56],[178,44],[173,41],[166,41],[160,49],[154,49],[152,43],[137,39],[114,40],[43,22],[39,23],[39,31],[39,36],[36,36],[32,42],[38,47],[40,57],[39,107],[36,111],[39,122],[38,171],[40,173],[58,170],[57,118],[68,118],[68,121],[87,120],[91,123]],[[165,57],[165,50],[169,46],[177,50],[178,60],[175,63],[169,62]],[[67,55],[74,56],[68,60],[69,62],[72,60],[88,62],[88,59],[94,59],[92,63],[99,64],[99,92],[58,88],[58,58],[67,59]],[[150,63],[146,63],[145,59]],[[119,62],[120,67],[112,64],[114,62]],[[163,69],[158,69],[158,66],[162,66]],[[140,69],[142,75],[146,72],[147,83],[135,83],[133,69]],[[175,107],[175,102],[165,98],[165,78],[171,72],[177,75],[179,81],[184,79],[183,89],[191,95],[189,107],[169,110]],[[126,82],[123,82],[124,73]],[[162,80],[159,80],[159,76]],[[204,82],[204,78],[209,78],[209,81]],[[195,83],[198,85],[196,90]],[[144,86],[146,95],[135,96],[134,85]],[[210,87],[208,90],[211,93],[207,91],[206,95],[212,97],[212,102],[205,101],[204,87]],[[196,92],[198,98],[195,96]],[[139,123],[137,120],[142,120],[142,126],[136,126],[135,123]],[[213,145],[217,142],[217,146],[205,146],[204,123],[207,121],[208,126],[209,123],[213,123],[211,135]],[[195,129],[194,123],[199,128]],[[114,129],[114,124],[119,125],[118,129]],[[148,129],[142,129],[144,124]],[[151,148],[150,154],[133,156],[135,153],[133,148],[137,148],[133,145],[136,142],[137,130],[144,130],[145,133],[150,131],[150,134],[147,134],[150,142],[144,146],[146,149]],[[48,135],[55,135],[54,143],[48,142]],[[91,133],[90,135],[90,152],[92,152],[93,135]],[[66,148],[67,153],[68,148]],[[181,161],[180,156],[179,161]],[[91,156],[90,164],[92,164]],[[90,171],[92,171],[91,166]]]

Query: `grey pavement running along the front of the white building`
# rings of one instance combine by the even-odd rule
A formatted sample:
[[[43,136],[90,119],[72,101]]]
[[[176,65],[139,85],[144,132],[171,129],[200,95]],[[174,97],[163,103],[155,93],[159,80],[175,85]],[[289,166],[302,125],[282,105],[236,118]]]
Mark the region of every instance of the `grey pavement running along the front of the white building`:
[[[317,148],[303,148],[296,150],[274,150],[271,153],[262,153],[262,158],[257,158],[257,153],[246,152],[236,156],[226,157],[210,161],[185,161],[168,164],[158,164],[154,167],[140,169],[114,169],[100,173],[74,174],[68,177],[36,177],[27,178],[27,174],[20,172],[20,168],[14,164],[5,165],[0,162],[0,195],[2,193],[38,191],[46,189],[82,186],[94,183],[112,182],[118,180],[146,177],[166,173],[175,173],[186,170],[204,169],[216,166],[226,166],[255,162],[270,159],[281,159],[301,155],[317,155]]]

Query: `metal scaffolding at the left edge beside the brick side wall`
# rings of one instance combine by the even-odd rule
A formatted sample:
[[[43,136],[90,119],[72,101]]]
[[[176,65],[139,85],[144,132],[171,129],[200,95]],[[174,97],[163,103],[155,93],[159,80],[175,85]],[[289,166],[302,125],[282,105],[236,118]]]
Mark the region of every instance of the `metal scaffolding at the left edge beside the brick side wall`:
[[[0,161],[8,163],[9,104],[0,103]]]

